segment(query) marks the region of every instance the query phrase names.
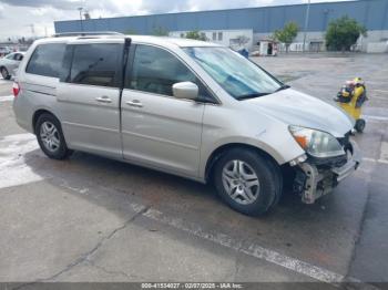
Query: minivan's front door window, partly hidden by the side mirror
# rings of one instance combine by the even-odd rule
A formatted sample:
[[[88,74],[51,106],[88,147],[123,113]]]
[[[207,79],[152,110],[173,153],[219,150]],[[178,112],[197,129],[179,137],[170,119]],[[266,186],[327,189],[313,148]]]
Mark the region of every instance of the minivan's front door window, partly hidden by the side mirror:
[[[150,46],[137,45],[126,86],[132,90],[173,96],[173,84],[193,82],[200,87],[200,95],[207,97],[206,89],[195,74],[170,52]]]

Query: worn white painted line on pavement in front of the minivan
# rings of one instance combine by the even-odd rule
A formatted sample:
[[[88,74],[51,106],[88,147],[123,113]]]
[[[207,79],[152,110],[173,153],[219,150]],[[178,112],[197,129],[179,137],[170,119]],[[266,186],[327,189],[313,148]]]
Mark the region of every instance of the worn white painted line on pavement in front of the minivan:
[[[246,247],[242,245],[241,241],[236,241],[227,235],[219,232],[206,232],[197,225],[187,225],[187,222],[185,222],[183,219],[167,217],[163,213],[155,209],[149,209],[143,214],[143,216],[152,220],[162,222],[164,225],[171,226],[175,229],[183,230],[202,239],[243,252],[251,257],[255,257],[267,262],[275,263],[277,266],[310,277],[321,282],[338,283],[345,280],[345,277],[343,275],[338,275],[327,269],[316,267],[308,262],[304,262],[298,259],[282,255],[277,251],[263,248],[256,244],[252,244],[248,247]]]

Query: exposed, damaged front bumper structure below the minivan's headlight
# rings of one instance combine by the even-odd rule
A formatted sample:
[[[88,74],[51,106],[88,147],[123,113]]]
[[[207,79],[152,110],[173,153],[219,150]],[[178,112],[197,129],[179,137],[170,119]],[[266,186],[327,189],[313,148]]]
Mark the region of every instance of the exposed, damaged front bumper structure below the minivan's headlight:
[[[341,158],[307,158],[295,166],[294,190],[302,195],[303,203],[314,204],[358,168],[361,157],[356,142],[349,141],[346,152],[347,155]]]

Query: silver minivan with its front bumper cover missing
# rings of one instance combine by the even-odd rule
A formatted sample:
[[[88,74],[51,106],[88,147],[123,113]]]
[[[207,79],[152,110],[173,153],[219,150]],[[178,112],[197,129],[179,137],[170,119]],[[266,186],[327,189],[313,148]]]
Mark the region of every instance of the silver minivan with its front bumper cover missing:
[[[13,85],[50,158],[83,151],[214,184],[246,215],[289,186],[313,204],[357,169],[354,120],[228,48],[90,34],[35,41]]]

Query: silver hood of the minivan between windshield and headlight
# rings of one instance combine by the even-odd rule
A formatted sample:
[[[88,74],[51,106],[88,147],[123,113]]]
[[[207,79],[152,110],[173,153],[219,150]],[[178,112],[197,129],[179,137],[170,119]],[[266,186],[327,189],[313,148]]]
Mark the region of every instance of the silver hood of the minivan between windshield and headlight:
[[[354,120],[341,108],[293,89],[242,102],[287,125],[325,131],[335,137],[343,137],[354,127]]]

